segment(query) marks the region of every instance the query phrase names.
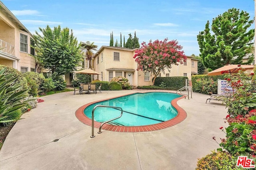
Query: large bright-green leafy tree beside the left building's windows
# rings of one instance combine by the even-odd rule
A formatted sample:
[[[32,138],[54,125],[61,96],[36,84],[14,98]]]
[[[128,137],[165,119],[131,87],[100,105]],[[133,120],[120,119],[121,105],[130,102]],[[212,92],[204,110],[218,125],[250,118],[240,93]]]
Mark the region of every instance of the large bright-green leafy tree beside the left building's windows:
[[[82,55],[72,30],[69,31],[67,27],[61,30],[60,25],[53,30],[49,25],[45,29],[39,27],[39,30],[42,35],[36,31],[34,37],[36,57],[40,59],[40,64],[58,75],[76,70]]]

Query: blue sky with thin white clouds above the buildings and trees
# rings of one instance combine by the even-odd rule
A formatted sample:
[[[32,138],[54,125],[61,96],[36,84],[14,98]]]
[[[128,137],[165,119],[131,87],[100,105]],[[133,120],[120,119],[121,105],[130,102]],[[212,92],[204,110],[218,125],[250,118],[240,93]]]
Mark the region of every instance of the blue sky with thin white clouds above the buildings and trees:
[[[196,39],[207,20],[212,22],[230,8],[254,17],[253,0],[2,0],[34,34],[38,27],[60,25],[73,30],[78,41],[109,45],[110,33],[120,42],[131,33],[139,42],[176,39],[186,55],[199,55]],[[253,25],[254,26],[254,25]],[[122,40],[123,41],[123,40]]]

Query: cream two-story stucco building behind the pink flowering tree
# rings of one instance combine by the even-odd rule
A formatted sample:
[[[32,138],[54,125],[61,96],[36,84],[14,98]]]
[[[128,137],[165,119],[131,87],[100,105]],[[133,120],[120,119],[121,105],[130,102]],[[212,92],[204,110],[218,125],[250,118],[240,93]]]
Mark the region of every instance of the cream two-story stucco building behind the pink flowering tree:
[[[110,81],[113,77],[123,76],[128,78],[130,84],[133,86],[152,85],[152,77],[150,77],[149,72],[144,73],[141,70],[136,70],[138,65],[133,58],[135,51],[136,49],[124,47],[100,47],[94,55],[95,71],[100,73],[95,79]],[[178,66],[172,65],[170,72],[165,70],[165,74],[160,73],[158,76],[187,76],[191,79],[193,74],[198,74],[198,60],[190,56],[187,56],[187,58],[184,64],[179,64]]]

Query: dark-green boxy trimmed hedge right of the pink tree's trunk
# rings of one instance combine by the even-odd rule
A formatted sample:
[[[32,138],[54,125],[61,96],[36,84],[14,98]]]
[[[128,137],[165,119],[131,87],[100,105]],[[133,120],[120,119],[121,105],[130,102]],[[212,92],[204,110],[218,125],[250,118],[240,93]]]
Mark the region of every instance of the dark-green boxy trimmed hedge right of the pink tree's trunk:
[[[186,86],[186,79],[188,79],[188,77],[156,77],[154,86],[159,86],[164,82],[166,83],[166,88],[169,90],[179,90]]]

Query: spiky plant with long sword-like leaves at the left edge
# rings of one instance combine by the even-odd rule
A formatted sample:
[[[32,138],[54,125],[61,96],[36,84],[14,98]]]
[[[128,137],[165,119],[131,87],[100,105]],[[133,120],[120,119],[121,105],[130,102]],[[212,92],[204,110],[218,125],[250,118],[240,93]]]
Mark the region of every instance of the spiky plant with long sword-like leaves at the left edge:
[[[22,90],[23,82],[17,81],[16,72],[12,74],[5,71],[6,68],[0,70],[0,123],[8,125],[20,118],[20,108],[29,101],[24,101],[28,96],[27,90]]]

